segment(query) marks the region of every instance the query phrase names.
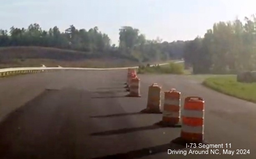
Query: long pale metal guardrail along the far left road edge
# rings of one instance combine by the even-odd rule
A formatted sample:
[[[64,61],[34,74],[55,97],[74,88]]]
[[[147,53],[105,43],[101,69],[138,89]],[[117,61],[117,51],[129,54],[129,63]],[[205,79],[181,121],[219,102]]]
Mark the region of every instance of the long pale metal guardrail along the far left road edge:
[[[182,63],[184,61],[176,61],[174,63]],[[159,66],[166,65],[169,63],[159,64]],[[150,66],[155,66],[150,65]],[[18,67],[18,68],[2,68],[0,69],[0,76],[9,75],[12,73],[40,73],[40,72],[50,72],[54,70],[119,70],[128,68],[139,68],[134,67],[119,67],[119,68],[74,68],[74,67]]]

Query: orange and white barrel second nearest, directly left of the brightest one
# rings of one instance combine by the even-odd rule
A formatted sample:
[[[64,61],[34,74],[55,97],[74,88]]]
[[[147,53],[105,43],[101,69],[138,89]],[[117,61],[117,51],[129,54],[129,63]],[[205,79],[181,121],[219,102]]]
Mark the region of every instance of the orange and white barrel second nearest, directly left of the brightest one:
[[[180,123],[181,93],[175,89],[165,92],[162,124],[177,125]]]

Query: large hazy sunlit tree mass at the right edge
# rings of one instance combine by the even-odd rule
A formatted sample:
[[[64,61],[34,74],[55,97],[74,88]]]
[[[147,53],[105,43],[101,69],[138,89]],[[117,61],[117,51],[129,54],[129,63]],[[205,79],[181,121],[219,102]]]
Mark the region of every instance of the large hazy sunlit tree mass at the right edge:
[[[184,59],[194,73],[256,70],[256,17],[215,23],[204,37],[185,42]]]

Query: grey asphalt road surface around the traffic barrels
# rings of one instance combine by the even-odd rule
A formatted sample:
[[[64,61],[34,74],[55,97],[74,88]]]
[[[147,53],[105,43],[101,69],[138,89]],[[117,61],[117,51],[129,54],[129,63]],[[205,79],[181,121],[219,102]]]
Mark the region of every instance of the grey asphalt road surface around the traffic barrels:
[[[0,78],[0,159],[256,158],[255,104],[175,75],[139,75],[142,97],[124,97],[126,73],[58,71]],[[190,148],[170,144],[181,128],[155,126],[161,114],[138,113],[146,108],[152,83],[163,91],[176,88],[182,99],[205,99],[205,140],[223,144],[212,149],[220,154],[210,149],[209,154],[188,154]],[[187,153],[168,154],[168,149]],[[223,149],[235,152],[223,154]],[[236,149],[250,154],[236,154]]]

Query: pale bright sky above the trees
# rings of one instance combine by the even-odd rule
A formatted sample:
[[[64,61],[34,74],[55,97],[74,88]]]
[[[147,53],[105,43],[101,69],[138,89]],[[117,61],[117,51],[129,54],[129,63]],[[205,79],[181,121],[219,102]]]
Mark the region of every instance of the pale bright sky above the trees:
[[[0,28],[38,23],[44,30],[71,24],[97,26],[118,45],[119,29],[132,26],[147,39],[191,40],[215,22],[255,14],[255,0],[1,0]]]

